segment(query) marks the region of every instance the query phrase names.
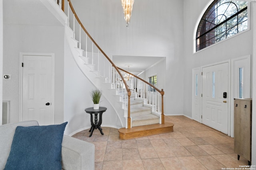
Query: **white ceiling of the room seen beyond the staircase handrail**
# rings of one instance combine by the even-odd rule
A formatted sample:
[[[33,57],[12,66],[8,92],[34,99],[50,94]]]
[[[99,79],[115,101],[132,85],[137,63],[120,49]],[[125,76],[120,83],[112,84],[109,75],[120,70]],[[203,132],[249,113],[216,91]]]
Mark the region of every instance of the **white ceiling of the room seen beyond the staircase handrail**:
[[[127,71],[129,65],[129,72],[138,75],[163,59],[165,59],[165,57],[114,55],[112,61],[117,67]]]

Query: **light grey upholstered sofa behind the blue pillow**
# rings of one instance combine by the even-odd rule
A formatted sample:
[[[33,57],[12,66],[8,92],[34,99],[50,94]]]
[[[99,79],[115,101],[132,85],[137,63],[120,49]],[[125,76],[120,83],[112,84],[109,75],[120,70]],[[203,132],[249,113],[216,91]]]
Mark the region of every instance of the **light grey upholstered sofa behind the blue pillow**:
[[[38,126],[38,122],[23,121],[0,125],[0,170],[3,170],[5,167],[17,126]],[[92,143],[64,135],[61,150],[62,169],[94,170],[95,147]]]

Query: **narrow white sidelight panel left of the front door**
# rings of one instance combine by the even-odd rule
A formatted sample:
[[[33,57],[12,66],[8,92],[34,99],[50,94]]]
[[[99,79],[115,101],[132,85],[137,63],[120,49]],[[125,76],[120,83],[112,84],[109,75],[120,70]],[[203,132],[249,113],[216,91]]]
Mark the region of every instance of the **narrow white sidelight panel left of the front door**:
[[[200,122],[200,67],[192,69],[192,119]]]

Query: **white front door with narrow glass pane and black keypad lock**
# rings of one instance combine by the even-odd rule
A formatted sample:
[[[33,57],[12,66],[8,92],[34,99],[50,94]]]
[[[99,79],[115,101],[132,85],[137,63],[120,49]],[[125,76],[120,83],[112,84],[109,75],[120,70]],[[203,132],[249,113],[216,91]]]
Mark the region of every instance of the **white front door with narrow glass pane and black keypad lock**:
[[[225,134],[228,134],[228,66],[222,63],[202,68],[202,123]]]

